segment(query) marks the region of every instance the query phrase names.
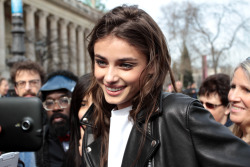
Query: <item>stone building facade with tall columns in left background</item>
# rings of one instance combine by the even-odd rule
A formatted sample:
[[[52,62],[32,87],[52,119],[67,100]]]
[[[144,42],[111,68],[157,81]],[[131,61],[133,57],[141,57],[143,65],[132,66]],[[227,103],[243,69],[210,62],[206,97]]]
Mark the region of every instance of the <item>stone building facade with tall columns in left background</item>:
[[[89,72],[86,37],[102,15],[77,0],[23,0],[25,57],[41,63],[47,72]],[[0,0],[0,75],[7,78],[11,29],[11,0]]]

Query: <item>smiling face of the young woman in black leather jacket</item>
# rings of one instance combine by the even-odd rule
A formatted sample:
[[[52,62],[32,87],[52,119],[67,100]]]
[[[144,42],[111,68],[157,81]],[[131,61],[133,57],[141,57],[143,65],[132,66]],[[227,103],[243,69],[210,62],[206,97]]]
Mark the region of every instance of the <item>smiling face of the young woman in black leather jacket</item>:
[[[147,66],[145,56],[125,40],[104,37],[95,43],[95,77],[109,104],[122,109],[132,105],[139,79]]]

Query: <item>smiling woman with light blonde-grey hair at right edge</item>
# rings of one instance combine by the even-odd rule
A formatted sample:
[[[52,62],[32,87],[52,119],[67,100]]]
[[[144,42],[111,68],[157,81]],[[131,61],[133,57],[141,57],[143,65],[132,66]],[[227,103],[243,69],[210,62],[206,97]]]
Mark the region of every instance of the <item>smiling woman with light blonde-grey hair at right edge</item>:
[[[233,133],[250,144],[250,57],[235,68],[228,99]]]

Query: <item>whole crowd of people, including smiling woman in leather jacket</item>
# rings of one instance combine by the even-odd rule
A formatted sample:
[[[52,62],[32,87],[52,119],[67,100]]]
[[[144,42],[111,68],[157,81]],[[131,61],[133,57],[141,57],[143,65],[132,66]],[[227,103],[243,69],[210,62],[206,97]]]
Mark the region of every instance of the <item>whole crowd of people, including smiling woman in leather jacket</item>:
[[[96,23],[88,53],[92,72],[79,78],[67,70],[45,76],[32,61],[13,66],[17,96],[37,96],[44,108],[41,149],[21,152],[20,166],[249,167],[250,59],[231,79],[209,76],[187,96],[159,26],[126,5]],[[172,93],[163,91],[167,74]]]

